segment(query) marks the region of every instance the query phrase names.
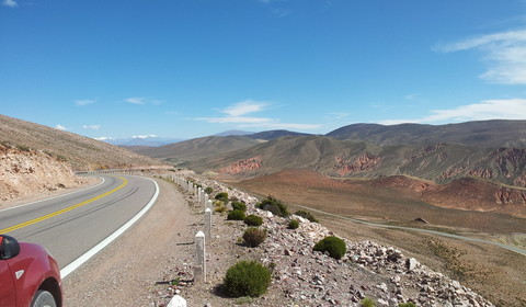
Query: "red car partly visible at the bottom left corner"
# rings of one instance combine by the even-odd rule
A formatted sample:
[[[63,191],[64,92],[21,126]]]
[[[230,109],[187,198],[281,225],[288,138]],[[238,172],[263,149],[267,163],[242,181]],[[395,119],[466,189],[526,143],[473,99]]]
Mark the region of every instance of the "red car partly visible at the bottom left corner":
[[[61,307],[60,270],[41,246],[0,235],[0,306]]]

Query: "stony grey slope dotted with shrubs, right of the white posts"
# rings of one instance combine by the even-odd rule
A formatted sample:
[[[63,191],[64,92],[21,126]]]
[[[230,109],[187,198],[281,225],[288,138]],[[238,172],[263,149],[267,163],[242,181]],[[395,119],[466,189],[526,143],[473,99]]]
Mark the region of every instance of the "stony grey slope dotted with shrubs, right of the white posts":
[[[165,306],[173,293],[186,297],[192,306],[237,306],[235,299],[220,293],[220,283],[228,265],[239,260],[254,260],[273,268],[267,293],[251,299],[250,306],[362,306],[366,297],[375,300],[376,306],[386,307],[407,302],[418,306],[494,306],[458,281],[431,270],[395,247],[344,239],[346,253],[342,259],[313,251],[316,242],[324,237],[340,236],[296,215],[290,218],[299,220],[299,228],[288,229],[289,218],[256,208],[258,198],[216,181],[185,174],[203,186],[244,202],[247,214],[263,218],[260,228],[266,231],[266,240],[258,248],[248,248],[237,239],[247,226],[215,215],[213,231],[218,235],[207,246],[211,259],[208,282],[169,285],[173,280],[192,280],[188,263],[195,255],[178,257],[171,263],[175,269],[164,276],[167,282],[159,283],[153,292],[157,306]],[[188,197],[188,202],[195,203],[195,198]],[[202,212],[201,205],[195,209]]]

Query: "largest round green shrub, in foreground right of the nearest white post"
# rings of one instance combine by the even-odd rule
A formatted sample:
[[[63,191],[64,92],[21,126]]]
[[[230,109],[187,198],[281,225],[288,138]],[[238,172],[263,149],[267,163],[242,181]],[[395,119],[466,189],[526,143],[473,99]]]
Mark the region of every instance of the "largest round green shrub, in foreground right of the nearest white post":
[[[271,284],[271,272],[255,261],[240,261],[227,270],[222,287],[232,297],[256,297]]]

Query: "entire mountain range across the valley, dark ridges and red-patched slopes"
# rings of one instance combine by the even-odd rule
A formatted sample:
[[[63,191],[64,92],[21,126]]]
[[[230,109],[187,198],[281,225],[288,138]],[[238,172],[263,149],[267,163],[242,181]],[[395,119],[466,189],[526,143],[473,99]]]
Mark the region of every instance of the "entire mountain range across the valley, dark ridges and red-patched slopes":
[[[338,178],[409,175],[445,183],[473,177],[526,186],[526,121],[354,124],[324,136],[272,130],[135,150],[180,167],[237,178],[310,169]]]

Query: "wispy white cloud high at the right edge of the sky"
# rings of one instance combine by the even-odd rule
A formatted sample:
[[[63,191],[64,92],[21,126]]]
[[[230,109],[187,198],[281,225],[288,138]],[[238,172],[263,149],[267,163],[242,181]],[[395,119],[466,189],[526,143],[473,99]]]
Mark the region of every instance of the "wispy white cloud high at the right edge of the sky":
[[[478,49],[489,66],[480,78],[494,83],[526,84],[526,29],[481,35],[436,49],[444,53]]]

